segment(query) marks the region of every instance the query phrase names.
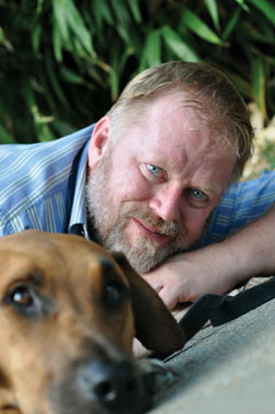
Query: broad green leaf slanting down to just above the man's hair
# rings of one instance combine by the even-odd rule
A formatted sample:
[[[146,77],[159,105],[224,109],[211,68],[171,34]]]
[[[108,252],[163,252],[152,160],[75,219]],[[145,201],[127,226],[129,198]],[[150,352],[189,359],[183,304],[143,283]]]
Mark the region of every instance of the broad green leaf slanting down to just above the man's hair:
[[[173,29],[166,25],[162,28],[161,32],[164,42],[177,57],[185,62],[200,62],[196,51],[185,43]]]

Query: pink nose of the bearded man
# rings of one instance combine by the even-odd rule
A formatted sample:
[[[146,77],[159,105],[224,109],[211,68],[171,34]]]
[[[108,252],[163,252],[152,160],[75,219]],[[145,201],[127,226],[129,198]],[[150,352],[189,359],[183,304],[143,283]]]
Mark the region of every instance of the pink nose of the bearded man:
[[[151,210],[165,221],[179,221],[183,190],[160,188],[148,201]]]

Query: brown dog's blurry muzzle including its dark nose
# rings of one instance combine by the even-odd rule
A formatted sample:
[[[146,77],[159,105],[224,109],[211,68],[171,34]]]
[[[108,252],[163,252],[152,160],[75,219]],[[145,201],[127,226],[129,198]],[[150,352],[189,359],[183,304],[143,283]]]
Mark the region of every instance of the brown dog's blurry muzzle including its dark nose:
[[[154,377],[123,355],[70,363],[50,390],[53,414],[141,414],[150,408]]]

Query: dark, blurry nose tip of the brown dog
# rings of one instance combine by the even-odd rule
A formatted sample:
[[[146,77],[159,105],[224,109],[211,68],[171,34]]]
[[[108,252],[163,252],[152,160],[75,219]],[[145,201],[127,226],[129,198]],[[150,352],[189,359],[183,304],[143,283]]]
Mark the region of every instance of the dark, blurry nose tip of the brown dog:
[[[131,362],[92,362],[79,378],[86,397],[106,408],[124,413],[141,393],[141,381]]]

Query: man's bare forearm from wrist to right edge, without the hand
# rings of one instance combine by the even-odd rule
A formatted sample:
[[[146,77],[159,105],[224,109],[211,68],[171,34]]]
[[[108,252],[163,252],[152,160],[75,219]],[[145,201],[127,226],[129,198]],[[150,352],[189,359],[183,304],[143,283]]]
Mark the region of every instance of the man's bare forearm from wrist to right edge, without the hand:
[[[256,275],[275,274],[275,205],[260,219],[220,243],[197,251],[206,277],[204,293],[223,294]]]

